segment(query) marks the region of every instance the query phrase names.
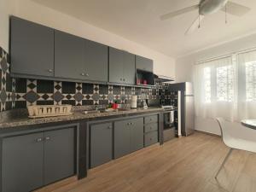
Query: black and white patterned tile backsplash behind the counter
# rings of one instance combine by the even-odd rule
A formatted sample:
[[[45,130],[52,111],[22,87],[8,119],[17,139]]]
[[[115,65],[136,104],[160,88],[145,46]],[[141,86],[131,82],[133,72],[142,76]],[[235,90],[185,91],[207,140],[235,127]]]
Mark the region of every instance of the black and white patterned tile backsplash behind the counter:
[[[159,84],[154,89],[107,84],[84,84],[39,79],[12,79],[9,73],[9,55],[0,47],[0,111],[26,108],[27,105],[72,104],[107,105],[129,103],[131,96],[169,104],[168,85]],[[169,98],[170,97],[170,98]]]

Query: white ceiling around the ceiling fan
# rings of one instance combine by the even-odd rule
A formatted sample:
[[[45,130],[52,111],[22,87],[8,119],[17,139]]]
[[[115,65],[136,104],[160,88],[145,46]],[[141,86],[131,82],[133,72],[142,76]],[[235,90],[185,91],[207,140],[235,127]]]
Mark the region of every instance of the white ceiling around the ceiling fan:
[[[159,17],[197,4],[199,0],[33,1],[175,58],[256,32],[255,0],[232,0],[251,8],[251,11],[242,17],[228,15],[228,24],[224,23],[221,11],[208,15],[201,28],[188,36],[184,32],[195,20],[197,11],[165,21]]]

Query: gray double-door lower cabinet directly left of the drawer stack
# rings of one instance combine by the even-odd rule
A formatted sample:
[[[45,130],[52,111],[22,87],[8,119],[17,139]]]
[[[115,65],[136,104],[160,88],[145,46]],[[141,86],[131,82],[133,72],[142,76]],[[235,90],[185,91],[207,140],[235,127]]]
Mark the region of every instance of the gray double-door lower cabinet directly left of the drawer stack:
[[[143,118],[114,122],[114,158],[143,148]]]

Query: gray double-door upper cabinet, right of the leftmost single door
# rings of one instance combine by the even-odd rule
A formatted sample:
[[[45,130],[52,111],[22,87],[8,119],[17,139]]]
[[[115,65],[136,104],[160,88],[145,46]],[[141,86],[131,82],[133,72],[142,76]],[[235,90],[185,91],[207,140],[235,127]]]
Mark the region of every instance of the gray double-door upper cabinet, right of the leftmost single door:
[[[55,30],[55,77],[108,81],[108,46]]]

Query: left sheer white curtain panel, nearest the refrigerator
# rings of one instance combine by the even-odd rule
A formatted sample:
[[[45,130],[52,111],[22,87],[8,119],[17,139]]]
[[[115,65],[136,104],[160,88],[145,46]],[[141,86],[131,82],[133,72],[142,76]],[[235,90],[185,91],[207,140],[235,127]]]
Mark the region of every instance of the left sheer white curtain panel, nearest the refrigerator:
[[[196,116],[237,119],[236,71],[231,56],[195,66]]]

